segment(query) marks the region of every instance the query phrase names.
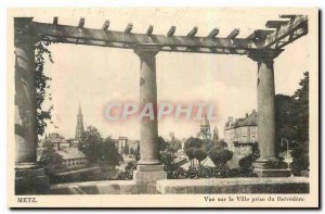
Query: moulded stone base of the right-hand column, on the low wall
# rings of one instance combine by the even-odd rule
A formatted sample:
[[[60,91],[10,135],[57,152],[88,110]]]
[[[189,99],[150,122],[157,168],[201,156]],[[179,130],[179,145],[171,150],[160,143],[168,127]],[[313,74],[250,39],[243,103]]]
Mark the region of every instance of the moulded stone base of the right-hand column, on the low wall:
[[[252,166],[258,177],[289,177],[291,175],[287,164],[277,159],[257,160]]]

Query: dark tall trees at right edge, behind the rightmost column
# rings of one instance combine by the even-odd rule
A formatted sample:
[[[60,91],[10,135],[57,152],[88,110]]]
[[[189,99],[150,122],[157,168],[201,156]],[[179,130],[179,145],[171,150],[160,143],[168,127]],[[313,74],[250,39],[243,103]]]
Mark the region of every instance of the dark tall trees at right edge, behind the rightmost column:
[[[289,140],[295,175],[309,168],[309,72],[303,76],[292,97],[275,97],[276,151],[284,151],[282,138]]]

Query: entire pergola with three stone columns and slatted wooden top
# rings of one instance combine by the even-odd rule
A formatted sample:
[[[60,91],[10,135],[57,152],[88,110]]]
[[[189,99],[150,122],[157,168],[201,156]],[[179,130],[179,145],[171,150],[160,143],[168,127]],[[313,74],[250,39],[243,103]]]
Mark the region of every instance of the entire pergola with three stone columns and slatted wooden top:
[[[35,48],[40,40],[107,48],[133,49],[139,55],[140,105],[157,103],[156,58],[159,51],[239,54],[247,55],[258,63],[258,142],[260,159],[255,171],[259,176],[288,176],[285,168],[273,168],[266,164],[278,161],[275,155],[275,111],[274,111],[274,70],[273,60],[288,43],[308,34],[308,16],[281,15],[277,21],[269,21],[266,29],[256,29],[247,38],[239,38],[239,29],[232,30],[226,37],[218,37],[219,28],[213,28],[206,37],[198,37],[198,27],[193,27],[185,36],[176,36],[176,26],[166,35],[155,35],[150,25],[144,34],[133,34],[132,24],[123,32],[109,29],[105,21],[101,29],[84,27],[86,20],[80,18],[77,26],[61,25],[58,17],[53,23],[34,22],[32,17],[14,18],[15,46],[15,136],[16,136],[16,190],[20,184],[31,184],[41,191],[41,184],[28,181],[28,176],[42,180],[42,169],[37,165],[37,112],[35,88]],[[166,179],[166,173],[158,160],[158,123],[140,122],[140,153],[134,180],[148,185]],[[24,181],[27,180],[27,181]],[[147,191],[151,191],[147,189]]]

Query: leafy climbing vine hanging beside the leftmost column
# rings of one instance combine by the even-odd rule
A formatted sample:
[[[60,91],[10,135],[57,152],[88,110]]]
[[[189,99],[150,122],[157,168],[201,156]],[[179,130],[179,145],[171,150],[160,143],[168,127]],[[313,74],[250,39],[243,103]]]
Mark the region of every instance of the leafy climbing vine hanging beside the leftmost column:
[[[49,81],[51,80],[44,74],[44,56],[47,54],[51,63],[53,63],[51,51],[47,48],[51,42],[40,40],[35,43],[35,64],[36,64],[36,80],[35,80],[35,88],[36,88],[36,110],[37,110],[37,125],[36,125],[36,133],[37,135],[42,136],[44,134],[44,128],[47,127],[47,121],[51,119],[51,111],[53,110],[53,105],[51,105],[48,110],[42,108],[42,103],[46,100],[47,89],[50,88]],[[49,100],[52,100],[50,95]]]

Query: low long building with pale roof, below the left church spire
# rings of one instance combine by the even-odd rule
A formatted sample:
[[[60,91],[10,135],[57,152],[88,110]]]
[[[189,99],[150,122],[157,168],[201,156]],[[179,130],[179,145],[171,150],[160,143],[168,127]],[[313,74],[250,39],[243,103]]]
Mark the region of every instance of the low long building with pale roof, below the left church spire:
[[[62,156],[63,164],[67,168],[84,167],[88,164],[87,156],[78,148],[64,148],[56,152]]]

